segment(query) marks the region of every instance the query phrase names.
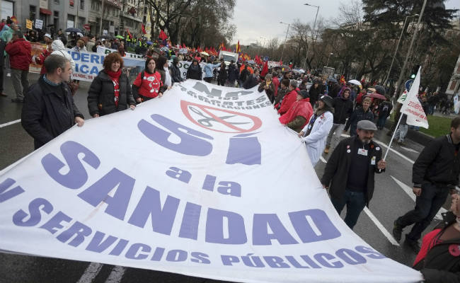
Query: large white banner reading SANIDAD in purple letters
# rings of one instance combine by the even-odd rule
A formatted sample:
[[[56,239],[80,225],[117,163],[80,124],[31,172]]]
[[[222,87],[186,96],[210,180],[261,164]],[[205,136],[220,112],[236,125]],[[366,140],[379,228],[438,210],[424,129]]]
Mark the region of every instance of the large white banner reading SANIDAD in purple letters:
[[[202,81],[0,171],[0,249],[234,282],[418,282],[347,228],[262,93]]]

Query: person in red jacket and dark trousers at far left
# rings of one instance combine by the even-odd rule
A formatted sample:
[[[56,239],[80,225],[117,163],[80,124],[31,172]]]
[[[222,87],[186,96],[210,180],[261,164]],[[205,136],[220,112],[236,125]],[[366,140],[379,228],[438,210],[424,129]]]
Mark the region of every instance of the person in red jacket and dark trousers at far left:
[[[23,33],[17,30],[13,33],[11,41],[6,44],[5,51],[10,55],[11,81],[16,91],[16,98],[13,98],[11,102],[22,103],[24,93],[29,88],[28,74],[29,65],[32,62],[30,54],[32,47],[30,42],[25,40]]]

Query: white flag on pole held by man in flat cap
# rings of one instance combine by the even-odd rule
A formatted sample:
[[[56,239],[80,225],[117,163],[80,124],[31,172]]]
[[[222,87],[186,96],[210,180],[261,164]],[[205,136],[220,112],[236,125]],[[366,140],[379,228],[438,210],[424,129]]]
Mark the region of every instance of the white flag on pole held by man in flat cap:
[[[406,99],[404,99],[402,102],[403,106],[401,107],[401,113],[408,115],[408,125],[419,126],[428,129],[427,115],[425,114],[425,111],[422,108],[422,104],[420,103],[417,97],[419,86],[420,68],[418,69],[417,76],[415,76],[414,82],[410,87],[409,92],[407,93]]]

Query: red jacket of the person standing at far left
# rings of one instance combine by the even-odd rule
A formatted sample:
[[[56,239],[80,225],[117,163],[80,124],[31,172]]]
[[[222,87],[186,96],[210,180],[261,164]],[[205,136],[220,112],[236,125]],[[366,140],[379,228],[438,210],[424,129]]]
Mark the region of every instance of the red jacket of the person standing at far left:
[[[11,69],[29,70],[29,65],[32,62],[32,47],[25,38],[18,38],[13,42],[8,42],[5,51],[10,55]]]

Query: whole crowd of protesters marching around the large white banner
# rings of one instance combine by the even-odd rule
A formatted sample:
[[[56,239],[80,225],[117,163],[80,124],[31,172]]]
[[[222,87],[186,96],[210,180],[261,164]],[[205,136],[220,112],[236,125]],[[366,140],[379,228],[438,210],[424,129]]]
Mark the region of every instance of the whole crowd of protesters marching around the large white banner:
[[[265,93],[279,115],[280,123],[297,134],[306,146],[311,163],[329,154],[320,180],[330,193],[338,214],[347,207],[345,223],[353,229],[364,207],[372,200],[374,175],[384,173],[386,161],[382,146],[372,140],[374,133],[384,131],[393,111],[389,91],[372,81],[337,79],[316,70],[299,71],[293,66],[270,66],[260,57],[254,60],[238,57],[225,62],[214,47],[198,48],[172,45],[167,37],[148,42],[144,37],[130,41],[105,39],[82,33],[67,34],[62,30],[46,33],[28,30],[23,33],[11,19],[0,23],[0,95],[12,103],[23,103],[21,123],[33,137],[35,149],[77,124],[84,127],[84,117],[73,96],[79,80],[71,79],[76,64],[69,51],[104,52],[103,69],[91,81],[88,112],[97,118],[122,110],[135,110],[146,100],[168,96],[174,83],[186,79],[203,80],[219,86],[253,89]],[[163,31],[161,31],[163,33]],[[31,43],[39,42],[40,54],[32,55]],[[239,45],[239,42],[238,42]],[[137,58],[144,60],[142,71],[131,78],[124,66],[134,47]],[[220,46],[219,50],[225,50]],[[238,46],[236,48],[238,53]],[[189,62],[186,74],[178,65]],[[29,83],[30,64],[41,66],[40,79]],[[4,93],[4,71],[11,77],[15,93]],[[134,79],[134,80],[133,80]],[[10,80],[8,80],[10,81]],[[452,102],[443,93],[419,91],[420,103],[427,115],[435,109],[450,112]],[[4,99],[4,98],[2,98]],[[403,114],[394,142],[404,145],[408,117]],[[413,127],[416,129],[416,127]],[[392,134],[390,131],[389,134]],[[347,138],[340,137],[346,134]],[[459,282],[460,261],[449,253],[449,244],[460,244],[460,199],[458,185],[460,161],[460,118],[452,120],[451,133],[433,141],[420,154],[413,166],[413,187],[417,196],[415,209],[396,219],[393,235],[401,240],[406,226],[415,224],[405,243],[418,254],[414,268],[422,270],[426,282]],[[445,221],[418,242],[439,207],[452,193],[452,212]],[[447,244],[447,245],[446,245]]]

